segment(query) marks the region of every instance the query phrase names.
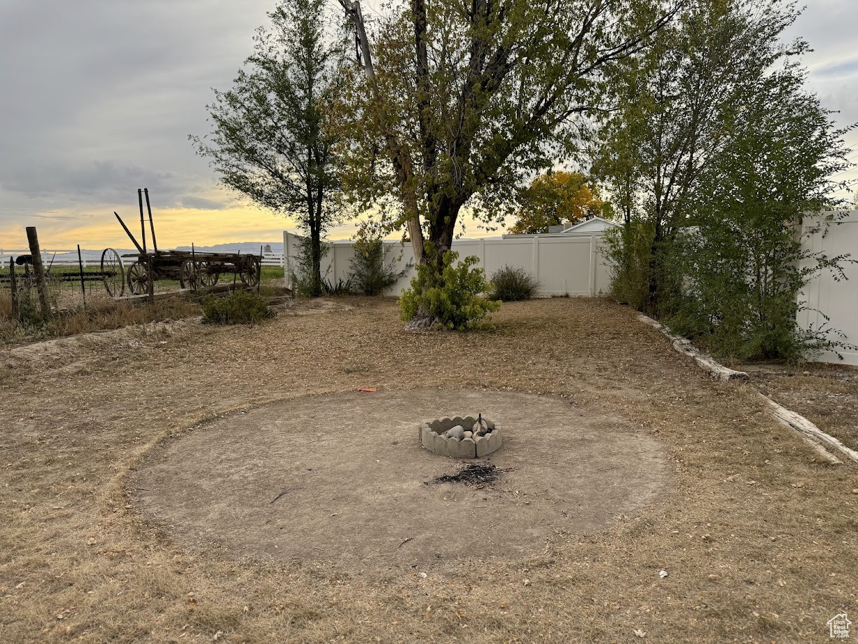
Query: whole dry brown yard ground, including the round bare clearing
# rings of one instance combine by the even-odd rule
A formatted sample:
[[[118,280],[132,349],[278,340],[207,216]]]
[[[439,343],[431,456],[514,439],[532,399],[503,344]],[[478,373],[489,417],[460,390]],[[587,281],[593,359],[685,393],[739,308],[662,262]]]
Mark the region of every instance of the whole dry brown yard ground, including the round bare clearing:
[[[624,307],[494,321],[410,334],[354,298],[0,349],[0,641],[807,642],[858,614],[855,467]],[[417,423],[471,406],[503,471],[424,484],[461,464]]]

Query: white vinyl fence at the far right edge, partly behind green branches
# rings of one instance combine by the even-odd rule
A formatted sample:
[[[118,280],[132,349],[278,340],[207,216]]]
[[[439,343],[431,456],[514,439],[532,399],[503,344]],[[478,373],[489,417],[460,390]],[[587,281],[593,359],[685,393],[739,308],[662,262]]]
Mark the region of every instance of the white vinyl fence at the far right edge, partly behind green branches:
[[[818,220],[806,220],[802,234],[804,247],[812,252],[824,252],[828,257],[849,254],[851,259],[858,259],[858,211],[852,210],[840,221],[839,224],[819,227]],[[810,232],[818,227],[818,232]],[[840,338],[832,331],[829,334],[832,339],[858,344],[858,264],[844,263],[844,272],[848,277],[846,280],[837,281],[830,272],[823,271],[807,284],[800,300],[807,302],[808,310],[799,313],[799,324],[805,329],[827,325],[846,336]],[[830,319],[827,322],[826,315]],[[815,360],[858,365],[858,349],[840,349],[838,353],[843,355],[843,361],[831,351]]]

